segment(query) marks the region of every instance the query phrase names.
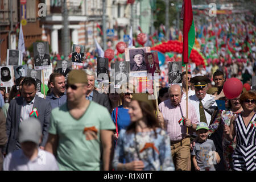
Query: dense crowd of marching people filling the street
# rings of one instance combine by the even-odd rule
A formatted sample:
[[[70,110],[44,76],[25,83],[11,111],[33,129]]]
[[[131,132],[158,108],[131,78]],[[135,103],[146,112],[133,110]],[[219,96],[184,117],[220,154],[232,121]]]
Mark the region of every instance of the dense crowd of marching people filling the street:
[[[52,53],[45,99],[38,96],[42,83],[32,76],[17,78],[9,93],[0,88],[0,169],[255,171],[255,26],[246,20],[234,26],[240,19],[222,16],[198,26],[197,40],[207,63],[190,60],[188,74],[184,69],[179,73],[180,85],[168,85],[168,62],[181,61],[181,56],[166,54],[157,71],[156,100],[148,100],[151,93],[135,93],[126,79],[120,81],[122,93],[110,92],[110,86],[102,93],[95,51],[79,55],[83,65],[72,70],[64,56]],[[207,42],[212,32],[219,43],[226,42],[226,49],[213,51]],[[242,45],[248,34],[253,40],[249,54]],[[227,42],[231,55],[225,53]],[[35,60],[39,63],[40,57]],[[32,69],[35,60],[27,56],[25,64]],[[64,69],[57,69],[57,60]],[[119,73],[127,77],[125,62],[118,63]],[[232,77],[244,87],[237,97],[228,98],[223,86]]]

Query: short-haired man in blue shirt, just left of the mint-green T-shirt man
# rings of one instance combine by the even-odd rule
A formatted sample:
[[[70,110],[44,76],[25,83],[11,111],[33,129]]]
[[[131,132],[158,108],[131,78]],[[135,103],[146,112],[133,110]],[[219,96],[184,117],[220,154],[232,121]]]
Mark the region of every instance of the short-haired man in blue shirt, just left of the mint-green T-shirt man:
[[[61,73],[52,73],[49,76],[49,82],[52,92],[49,96],[46,96],[46,100],[49,100],[52,109],[59,107],[67,102],[67,95],[65,93],[65,77]]]

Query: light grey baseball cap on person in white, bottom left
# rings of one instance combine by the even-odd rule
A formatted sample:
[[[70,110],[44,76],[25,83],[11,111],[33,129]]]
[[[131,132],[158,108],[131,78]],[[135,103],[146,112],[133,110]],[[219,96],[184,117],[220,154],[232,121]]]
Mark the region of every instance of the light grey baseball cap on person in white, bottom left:
[[[39,145],[42,136],[42,126],[38,119],[29,118],[19,125],[19,143],[34,142]]]

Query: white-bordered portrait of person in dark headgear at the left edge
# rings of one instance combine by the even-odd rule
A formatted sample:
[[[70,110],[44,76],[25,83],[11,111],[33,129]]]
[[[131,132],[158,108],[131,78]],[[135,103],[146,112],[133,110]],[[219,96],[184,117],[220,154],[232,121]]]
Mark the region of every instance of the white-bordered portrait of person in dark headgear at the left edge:
[[[13,67],[0,67],[1,71],[1,86],[13,86]]]

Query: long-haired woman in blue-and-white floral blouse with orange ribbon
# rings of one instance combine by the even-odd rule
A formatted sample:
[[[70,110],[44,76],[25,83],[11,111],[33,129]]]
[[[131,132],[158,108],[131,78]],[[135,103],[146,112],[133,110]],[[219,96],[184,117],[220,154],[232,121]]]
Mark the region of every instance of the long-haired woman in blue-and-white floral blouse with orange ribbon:
[[[131,124],[119,133],[113,159],[115,170],[174,171],[170,138],[159,127],[152,110],[147,102],[131,101]],[[121,163],[124,159],[126,163]]]

